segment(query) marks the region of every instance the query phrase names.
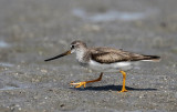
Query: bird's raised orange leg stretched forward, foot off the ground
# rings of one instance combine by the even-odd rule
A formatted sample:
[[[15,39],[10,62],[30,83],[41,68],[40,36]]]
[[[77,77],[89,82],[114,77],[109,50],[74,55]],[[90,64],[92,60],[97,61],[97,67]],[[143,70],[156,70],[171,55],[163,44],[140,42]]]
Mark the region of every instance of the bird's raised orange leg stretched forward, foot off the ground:
[[[70,83],[70,84],[76,85],[75,88],[81,88],[82,85],[85,88],[86,83],[101,81],[101,80],[102,80],[102,75],[103,75],[103,73],[101,73],[101,75],[100,75],[98,79],[96,79],[96,80],[83,81],[83,82],[77,82],[77,83],[72,82],[72,83]]]

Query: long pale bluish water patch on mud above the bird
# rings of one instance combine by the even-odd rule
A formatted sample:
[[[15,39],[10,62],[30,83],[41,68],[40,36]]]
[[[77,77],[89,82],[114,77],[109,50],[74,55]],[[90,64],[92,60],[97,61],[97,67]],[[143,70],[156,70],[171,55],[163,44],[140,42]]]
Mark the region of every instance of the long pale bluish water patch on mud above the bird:
[[[92,22],[105,22],[105,21],[114,21],[114,20],[123,20],[123,21],[134,21],[140,20],[144,18],[148,18],[152,13],[156,12],[156,10],[149,10],[146,12],[122,12],[116,10],[110,10],[103,13],[93,13],[86,12],[84,9],[73,9],[73,14],[82,18],[83,20],[88,20]]]

